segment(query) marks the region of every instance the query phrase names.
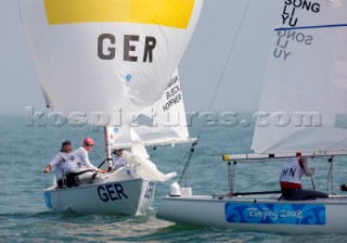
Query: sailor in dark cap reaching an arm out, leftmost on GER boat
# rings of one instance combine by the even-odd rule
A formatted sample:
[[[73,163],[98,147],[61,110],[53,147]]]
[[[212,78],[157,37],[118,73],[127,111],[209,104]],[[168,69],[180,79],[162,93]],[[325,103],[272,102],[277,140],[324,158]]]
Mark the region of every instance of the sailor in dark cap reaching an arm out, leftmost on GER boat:
[[[55,170],[55,180],[56,180],[56,184],[57,188],[63,188],[63,169],[62,169],[62,164],[65,163],[68,158],[68,156],[72,153],[72,142],[69,140],[65,140],[62,143],[61,146],[61,152],[59,152],[59,154],[55,155],[55,157],[53,158],[53,161],[51,161],[51,163],[46,166],[43,172],[49,172],[52,167],[54,166],[54,170]]]

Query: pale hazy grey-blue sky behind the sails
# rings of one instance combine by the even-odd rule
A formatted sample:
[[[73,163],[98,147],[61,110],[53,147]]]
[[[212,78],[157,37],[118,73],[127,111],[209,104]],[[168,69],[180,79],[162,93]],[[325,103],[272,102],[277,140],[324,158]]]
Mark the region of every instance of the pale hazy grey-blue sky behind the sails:
[[[213,110],[257,108],[277,3],[252,0]],[[209,107],[246,4],[246,0],[205,0],[179,66],[187,111]],[[1,0],[0,30],[0,113],[24,114],[29,105],[44,111],[16,0]]]

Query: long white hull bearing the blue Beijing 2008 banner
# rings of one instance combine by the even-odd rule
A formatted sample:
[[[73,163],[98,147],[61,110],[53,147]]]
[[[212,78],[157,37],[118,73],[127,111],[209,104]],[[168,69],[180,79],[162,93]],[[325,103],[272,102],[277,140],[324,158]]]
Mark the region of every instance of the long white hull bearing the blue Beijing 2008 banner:
[[[278,201],[279,196],[166,196],[156,217],[182,225],[250,231],[347,232],[346,196]]]

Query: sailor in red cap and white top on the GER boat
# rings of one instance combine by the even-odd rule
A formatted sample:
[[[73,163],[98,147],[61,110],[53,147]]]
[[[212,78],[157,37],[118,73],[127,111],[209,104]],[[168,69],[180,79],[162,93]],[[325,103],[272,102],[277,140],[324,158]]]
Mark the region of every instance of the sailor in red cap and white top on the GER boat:
[[[68,161],[63,165],[63,171],[66,176],[66,186],[68,188],[78,186],[77,181],[75,180],[75,176],[81,174],[81,170],[78,170],[79,168],[89,168],[82,170],[82,172],[90,170],[102,174],[105,172],[105,170],[97,168],[89,162],[88,153],[93,149],[93,146],[94,141],[91,138],[86,138],[82,142],[82,146],[80,146],[78,150],[75,150],[68,157]]]

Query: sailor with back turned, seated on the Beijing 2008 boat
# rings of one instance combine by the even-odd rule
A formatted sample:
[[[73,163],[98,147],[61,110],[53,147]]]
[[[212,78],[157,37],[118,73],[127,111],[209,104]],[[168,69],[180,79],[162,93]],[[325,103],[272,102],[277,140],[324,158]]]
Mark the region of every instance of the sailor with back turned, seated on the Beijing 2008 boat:
[[[292,157],[283,163],[283,169],[280,177],[282,196],[284,200],[314,200],[318,197],[327,197],[326,193],[303,190],[303,175],[312,176],[314,169],[310,168],[308,159],[304,157]]]

